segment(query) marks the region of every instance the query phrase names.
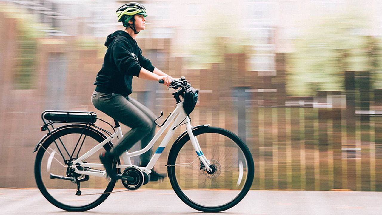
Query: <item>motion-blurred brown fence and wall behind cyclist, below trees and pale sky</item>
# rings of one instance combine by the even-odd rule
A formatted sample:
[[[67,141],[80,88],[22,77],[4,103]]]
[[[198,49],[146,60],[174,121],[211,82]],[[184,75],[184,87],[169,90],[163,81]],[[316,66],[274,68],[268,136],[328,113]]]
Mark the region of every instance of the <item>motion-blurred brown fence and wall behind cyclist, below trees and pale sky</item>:
[[[16,21],[2,13],[0,20],[0,187],[35,187],[32,150],[44,135],[42,111],[95,111],[110,121],[90,101],[103,59],[97,49],[77,47],[74,37],[40,38],[31,84],[21,90]],[[382,191],[382,90],[371,88],[369,71],[345,72],[345,91],[290,97],[284,53],[276,53],[276,72],[248,71],[244,54],[190,70],[183,68],[185,59],[171,57],[170,39],[137,41],[155,66],[200,89],[193,125],[224,127],[247,143],[255,161],[253,189]],[[155,114],[175,106],[161,85],[135,78],[133,88],[131,96]],[[183,130],[177,132],[174,140]],[[169,150],[156,165],[159,172],[166,171]],[[170,189],[170,183],[145,187]]]

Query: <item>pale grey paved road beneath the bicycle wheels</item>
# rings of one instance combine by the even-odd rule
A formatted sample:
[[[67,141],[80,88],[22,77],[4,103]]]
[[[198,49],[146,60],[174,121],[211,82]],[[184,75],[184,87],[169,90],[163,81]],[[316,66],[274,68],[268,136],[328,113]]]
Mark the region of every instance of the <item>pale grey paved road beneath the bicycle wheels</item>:
[[[172,190],[119,192],[87,212],[65,212],[51,205],[38,189],[0,189],[0,214],[185,215],[202,213],[184,204]],[[380,215],[382,192],[249,191],[227,215]]]

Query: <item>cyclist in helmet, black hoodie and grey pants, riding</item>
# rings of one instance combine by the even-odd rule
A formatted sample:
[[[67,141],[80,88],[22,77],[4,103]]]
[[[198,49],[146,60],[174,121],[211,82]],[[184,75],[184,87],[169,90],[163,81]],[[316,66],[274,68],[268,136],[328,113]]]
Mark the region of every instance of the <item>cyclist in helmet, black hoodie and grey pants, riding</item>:
[[[95,108],[131,127],[110,152],[100,155],[107,175],[113,179],[117,179],[115,158],[139,140],[141,147],[146,147],[155,134],[154,113],[129,96],[132,92],[133,76],[154,81],[162,79],[163,85],[167,86],[173,80],[142,55],[142,50],[135,41],[138,33],[146,28],[146,8],[140,3],[130,2],[118,8],[116,13],[118,21],[122,22],[125,29],[107,36],[104,64],[95,78],[96,87],[92,94]],[[139,166],[147,166],[151,155],[152,148],[140,156]],[[164,177],[166,174],[159,174],[152,169],[150,181],[162,180]]]

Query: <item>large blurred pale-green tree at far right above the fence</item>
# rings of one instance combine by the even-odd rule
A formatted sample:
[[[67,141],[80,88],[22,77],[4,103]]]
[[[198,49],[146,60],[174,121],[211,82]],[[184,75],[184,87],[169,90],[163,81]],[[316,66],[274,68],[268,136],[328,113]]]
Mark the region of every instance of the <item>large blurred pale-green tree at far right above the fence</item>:
[[[316,23],[295,41],[295,52],[288,60],[288,94],[343,90],[344,71],[380,68],[380,42],[366,35],[366,18],[351,13],[327,16]]]

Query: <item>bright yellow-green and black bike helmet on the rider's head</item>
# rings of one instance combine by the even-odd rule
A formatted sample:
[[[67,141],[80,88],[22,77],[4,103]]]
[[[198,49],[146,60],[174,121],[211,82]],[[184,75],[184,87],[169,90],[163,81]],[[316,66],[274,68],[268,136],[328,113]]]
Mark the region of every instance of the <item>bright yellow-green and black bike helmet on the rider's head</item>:
[[[122,5],[120,8],[117,9],[117,11],[115,11],[115,13],[117,14],[118,21],[122,22],[123,26],[125,26],[126,28],[130,26],[128,22],[132,17],[134,17],[134,15],[142,14],[144,17],[147,16],[146,8],[137,2],[129,2],[125,5]]]

